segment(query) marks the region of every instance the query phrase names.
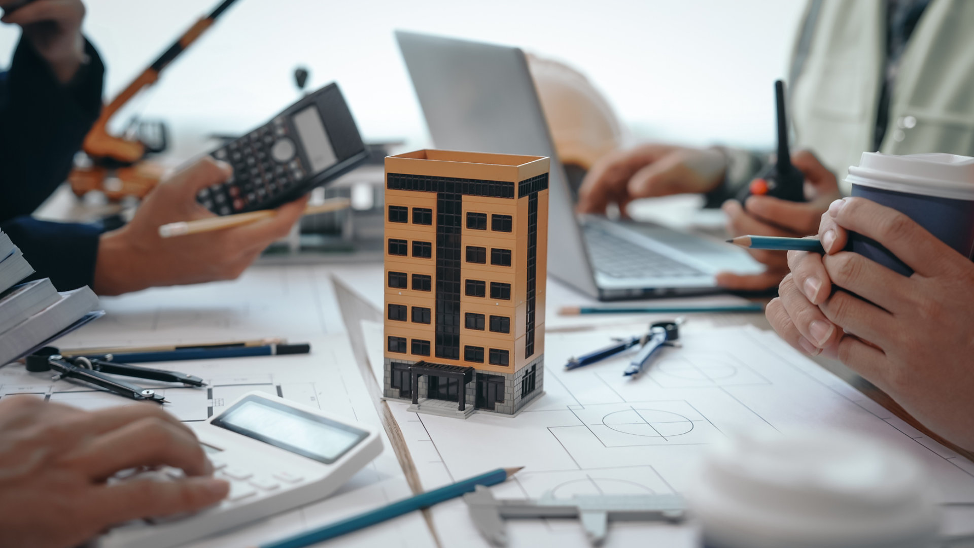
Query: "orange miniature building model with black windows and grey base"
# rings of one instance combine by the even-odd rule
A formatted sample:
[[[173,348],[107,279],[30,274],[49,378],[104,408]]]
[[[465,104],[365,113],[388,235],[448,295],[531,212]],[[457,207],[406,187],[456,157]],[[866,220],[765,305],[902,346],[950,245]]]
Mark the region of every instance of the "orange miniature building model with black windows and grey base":
[[[386,397],[466,418],[514,414],[543,393],[548,166],[386,158]]]

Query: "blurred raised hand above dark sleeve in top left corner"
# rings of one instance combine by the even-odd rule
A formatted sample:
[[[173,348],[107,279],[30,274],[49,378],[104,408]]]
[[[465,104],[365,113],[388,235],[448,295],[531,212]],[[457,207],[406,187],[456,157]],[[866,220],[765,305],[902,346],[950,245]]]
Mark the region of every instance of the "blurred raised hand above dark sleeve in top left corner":
[[[0,21],[19,24],[23,36],[37,53],[51,64],[62,84],[74,77],[85,59],[81,21],[85,5],[81,0],[0,0],[5,10]],[[7,10],[14,10],[7,12]]]

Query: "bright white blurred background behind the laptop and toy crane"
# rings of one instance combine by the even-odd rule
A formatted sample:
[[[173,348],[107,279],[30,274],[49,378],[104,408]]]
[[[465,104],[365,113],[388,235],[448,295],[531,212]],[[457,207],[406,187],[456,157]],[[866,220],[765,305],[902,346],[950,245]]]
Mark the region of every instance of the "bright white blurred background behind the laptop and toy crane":
[[[87,0],[85,30],[120,91],[218,0]],[[570,62],[638,139],[770,146],[772,81],[804,0],[239,0],[127,111],[176,136],[242,132],[310,88],[340,83],[366,138],[428,139],[393,29],[519,45]],[[19,29],[0,27],[0,63]]]

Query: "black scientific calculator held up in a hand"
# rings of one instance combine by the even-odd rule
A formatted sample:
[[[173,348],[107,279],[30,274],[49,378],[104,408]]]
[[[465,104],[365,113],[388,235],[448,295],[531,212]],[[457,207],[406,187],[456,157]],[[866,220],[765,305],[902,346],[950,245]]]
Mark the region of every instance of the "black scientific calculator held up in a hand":
[[[329,84],[269,123],[210,153],[234,174],[197,196],[207,210],[232,215],[276,208],[341,176],[368,158],[345,98]]]

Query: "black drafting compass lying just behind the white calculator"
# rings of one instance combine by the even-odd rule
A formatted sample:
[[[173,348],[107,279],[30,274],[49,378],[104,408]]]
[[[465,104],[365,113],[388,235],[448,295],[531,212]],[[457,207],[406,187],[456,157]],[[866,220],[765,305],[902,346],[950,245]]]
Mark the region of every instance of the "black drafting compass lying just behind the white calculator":
[[[110,360],[110,355],[106,356]],[[117,364],[108,360],[90,359],[85,356],[65,358],[53,346],[45,346],[34,354],[27,356],[27,371],[54,371],[55,380],[73,378],[94,384],[120,396],[136,401],[156,402],[166,404],[166,398],[151,388],[142,388],[131,382],[110,376],[106,373],[159,380],[163,382],[181,382],[188,386],[206,386],[206,382],[198,376],[184,372],[170,372],[152,368],[142,368],[129,364]]]

